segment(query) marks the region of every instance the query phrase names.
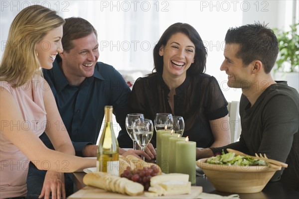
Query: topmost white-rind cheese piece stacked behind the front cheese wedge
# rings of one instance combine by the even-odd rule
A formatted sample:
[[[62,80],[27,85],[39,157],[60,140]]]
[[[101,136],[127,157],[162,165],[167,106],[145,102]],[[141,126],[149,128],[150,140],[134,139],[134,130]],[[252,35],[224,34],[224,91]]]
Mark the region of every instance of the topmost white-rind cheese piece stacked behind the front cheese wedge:
[[[188,182],[189,181],[189,175],[188,174],[165,174],[165,175],[157,175],[154,177],[151,177],[150,179],[150,187],[154,187],[155,185],[159,185],[163,182],[167,181],[182,181],[182,182]]]

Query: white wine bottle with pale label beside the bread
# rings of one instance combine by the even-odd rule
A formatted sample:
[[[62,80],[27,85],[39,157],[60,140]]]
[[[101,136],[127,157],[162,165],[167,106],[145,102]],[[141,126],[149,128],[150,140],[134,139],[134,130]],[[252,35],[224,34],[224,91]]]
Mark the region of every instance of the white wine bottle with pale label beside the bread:
[[[119,176],[119,145],[113,130],[112,112],[112,106],[105,106],[105,123],[99,142],[97,171]]]

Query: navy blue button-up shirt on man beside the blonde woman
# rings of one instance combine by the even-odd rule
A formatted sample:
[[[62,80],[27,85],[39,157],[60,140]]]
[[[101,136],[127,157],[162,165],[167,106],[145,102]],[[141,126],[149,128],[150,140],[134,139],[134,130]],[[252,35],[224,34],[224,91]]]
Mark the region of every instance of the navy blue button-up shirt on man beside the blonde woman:
[[[58,62],[61,62],[59,55],[56,56],[53,68],[43,70],[43,74],[54,94],[76,155],[82,156],[82,150],[86,145],[96,144],[105,105],[113,106],[116,120],[121,126],[118,136],[120,147],[132,147],[132,140],[125,127],[131,90],[122,75],[112,66],[98,62],[92,77],[86,78],[80,86],[72,86],[69,85]],[[57,127],[61,128],[61,124],[57,124]],[[120,129],[115,127],[115,130]],[[45,133],[40,138],[52,148]]]

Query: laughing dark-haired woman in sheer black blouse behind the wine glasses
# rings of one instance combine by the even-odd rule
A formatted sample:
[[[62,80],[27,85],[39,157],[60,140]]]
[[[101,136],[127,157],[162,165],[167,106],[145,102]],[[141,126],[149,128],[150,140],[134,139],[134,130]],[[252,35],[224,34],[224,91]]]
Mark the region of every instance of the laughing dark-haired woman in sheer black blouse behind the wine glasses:
[[[151,120],[158,112],[183,116],[183,136],[202,148],[230,143],[228,103],[217,80],[204,73],[206,56],[191,25],[172,24],[153,49],[152,73],[135,82],[130,100],[133,112]]]

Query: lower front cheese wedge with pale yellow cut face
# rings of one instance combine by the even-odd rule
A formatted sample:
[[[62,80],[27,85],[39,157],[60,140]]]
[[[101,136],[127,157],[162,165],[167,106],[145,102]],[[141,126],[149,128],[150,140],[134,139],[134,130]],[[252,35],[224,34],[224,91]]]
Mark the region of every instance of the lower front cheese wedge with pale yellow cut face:
[[[164,196],[190,194],[191,182],[184,181],[166,181],[159,184],[164,190]]]

